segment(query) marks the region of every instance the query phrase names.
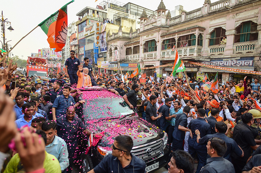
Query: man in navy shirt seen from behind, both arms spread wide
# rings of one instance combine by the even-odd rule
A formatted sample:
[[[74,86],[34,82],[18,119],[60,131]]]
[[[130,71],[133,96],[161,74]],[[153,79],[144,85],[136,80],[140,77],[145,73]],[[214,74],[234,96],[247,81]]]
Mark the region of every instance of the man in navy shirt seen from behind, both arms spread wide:
[[[201,145],[206,145],[210,138],[218,137],[220,139],[223,139],[227,145],[227,151],[223,156],[225,159],[227,159],[228,161],[231,162],[230,155],[232,152],[236,153],[240,157],[243,157],[244,156],[243,150],[240,149],[240,147],[237,145],[237,142],[235,142],[234,139],[229,138],[225,135],[227,128],[228,128],[227,125],[222,121],[217,122],[215,125],[216,125],[215,130],[217,133],[208,134],[204,137],[200,136],[199,130],[195,130],[195,134],[197,135],[197,143],[199,143]]]

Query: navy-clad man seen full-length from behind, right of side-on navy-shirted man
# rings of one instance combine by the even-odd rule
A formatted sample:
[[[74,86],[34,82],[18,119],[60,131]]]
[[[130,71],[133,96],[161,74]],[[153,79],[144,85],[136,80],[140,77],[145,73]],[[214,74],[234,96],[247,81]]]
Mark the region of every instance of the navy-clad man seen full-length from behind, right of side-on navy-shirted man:
[[[200,169],[206,165],[207,160],[207,150],[205,145],[201,145],[197,143],[197,135],[195,134],[195,130],[199,130],[202,137],[206,136],[207,134],[211,134],[210,125],[204,120],[206,110],[203,108],[199,108],[197,110],[197,119],[193,119],[189,123],[189,129],[192,132],[192,138],[189,137],[189,154],[194,158],[197,153],[199,158],[197,171],[196,173],[200,172]]]

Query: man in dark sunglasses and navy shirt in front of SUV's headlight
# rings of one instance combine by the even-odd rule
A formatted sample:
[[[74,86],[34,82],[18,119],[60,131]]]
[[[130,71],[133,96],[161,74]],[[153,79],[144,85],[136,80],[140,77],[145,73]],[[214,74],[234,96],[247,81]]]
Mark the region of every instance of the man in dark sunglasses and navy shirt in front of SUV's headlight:
[[[120,135],[115,137],[111,146],[112,154],[101,160],[94,169],[88,173],[104,172],[133,172],[146,173],[146,165],[143,160],[132,155],[133,140],[130,136]]]

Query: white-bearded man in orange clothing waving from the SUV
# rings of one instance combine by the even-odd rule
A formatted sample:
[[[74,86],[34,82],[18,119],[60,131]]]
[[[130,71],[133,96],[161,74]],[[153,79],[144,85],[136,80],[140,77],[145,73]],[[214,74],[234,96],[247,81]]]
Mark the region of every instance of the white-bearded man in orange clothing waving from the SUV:
[[[92,86],[91,77],[88,75],[89,69],[88,68],[82,68],[83,65],[80,65],[79,70],[77,71],[78,75],[78,83],[76,88],[81,88],[84,86]],[[81,72],[83,69],[83,72]]]

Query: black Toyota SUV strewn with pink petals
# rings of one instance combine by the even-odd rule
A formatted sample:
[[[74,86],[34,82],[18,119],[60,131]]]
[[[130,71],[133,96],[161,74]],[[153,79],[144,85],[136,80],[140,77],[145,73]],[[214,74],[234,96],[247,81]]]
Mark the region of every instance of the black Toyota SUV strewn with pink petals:
[[[104,131],[98,144],[88,153],[81,155],[82,171],[88,172],[107,155],[114,137],[129,135],[134,147],[131,153],[146,163],[146,171],[155,171],[167,164],[169,158],[166,132],[138,117],[132,109],[125,107],[121,96],[101,88],[86,88],[82,91],[83,120],[87,128],[96,133]],[[81,140],[81,147],[87,147],[87,140]]]

